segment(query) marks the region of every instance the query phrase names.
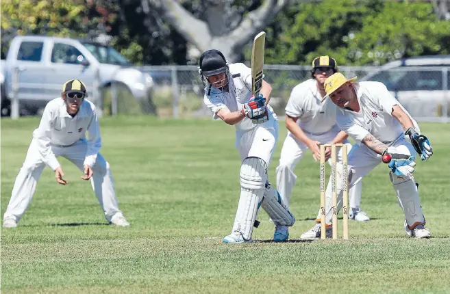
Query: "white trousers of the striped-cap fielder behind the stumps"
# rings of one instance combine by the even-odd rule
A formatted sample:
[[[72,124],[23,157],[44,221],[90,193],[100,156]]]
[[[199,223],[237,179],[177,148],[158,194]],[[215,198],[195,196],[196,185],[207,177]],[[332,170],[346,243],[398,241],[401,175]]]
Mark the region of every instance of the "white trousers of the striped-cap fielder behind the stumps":
[[[332,142],[332,140],[338,135],[340,129],[337,125],[327,133],[321,135],[314,135],[310,133],[305,133],[310,139],[314,141],[321,142],[322,144]],[[351,150],[351,144],[348,140],[345,141],[348,145],[348,152]],[[305,152],[308,150],[308,146],[301,142],[299,139],[295,138],[291,133],[288,133],[286,139],[284,140],[282,153],[279,158],[279,165],[277,167],[277,190],[279,195],[282,196],[284,204],[289,207],[290,195],[292,189],[295,186],[295,181],[297,181],[297,176],[294,174],[295,166],[299,163],[300,159],[303,157]],[[336,148],[338,152],[338,161],[342,162],[342,150],[341,148]],[[332,164],[331,157],[328,159],[329,165]],[[317,183],[318,185],[318,183]],[[362,192],[362,182],[360,181],[354,185],[349,190],[349,206],[353,209],[360,207],[361,205],[361,192]]]

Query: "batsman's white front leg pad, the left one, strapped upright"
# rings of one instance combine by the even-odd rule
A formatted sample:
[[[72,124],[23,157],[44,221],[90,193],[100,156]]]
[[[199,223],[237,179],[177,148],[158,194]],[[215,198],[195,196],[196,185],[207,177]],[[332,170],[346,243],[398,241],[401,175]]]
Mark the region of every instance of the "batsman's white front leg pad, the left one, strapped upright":
[[[247,157],[240,167],[240,198],[234,219],[234,232],[240,232],[245,240],[251,239],[260,202],[264,197],[267,181],[267,164],[258,157]]]

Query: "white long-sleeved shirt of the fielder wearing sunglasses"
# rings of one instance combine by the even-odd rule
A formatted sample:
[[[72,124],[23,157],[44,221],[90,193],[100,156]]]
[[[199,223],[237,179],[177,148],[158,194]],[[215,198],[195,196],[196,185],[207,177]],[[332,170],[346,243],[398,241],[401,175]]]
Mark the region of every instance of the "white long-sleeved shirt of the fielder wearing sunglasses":
[[[86,131],[89,138],[86,139]],[[38,142],[42,161],[52,170],[60,167],[58,159],[52,151],[52,146],[64,148],[72,146],[79,140],[86,140],[86,158],[84,165],[95,164],[101,148],[99,120],[95,105],[84,99],[79,111],[72,117],[67,113],[66,104],[62,98],[55,98],[45,106],[38,129],[34,130],[33,138]]]

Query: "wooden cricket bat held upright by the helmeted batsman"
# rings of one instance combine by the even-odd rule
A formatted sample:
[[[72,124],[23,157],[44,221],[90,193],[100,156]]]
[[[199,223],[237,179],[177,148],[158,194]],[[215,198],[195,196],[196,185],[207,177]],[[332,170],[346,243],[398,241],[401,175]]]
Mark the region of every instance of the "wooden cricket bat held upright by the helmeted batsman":
[[[264,43],[266,32],[261,31],[253,39],[251,50],[251,94],[258,96],[262,88],[262,68],[264,66]]]

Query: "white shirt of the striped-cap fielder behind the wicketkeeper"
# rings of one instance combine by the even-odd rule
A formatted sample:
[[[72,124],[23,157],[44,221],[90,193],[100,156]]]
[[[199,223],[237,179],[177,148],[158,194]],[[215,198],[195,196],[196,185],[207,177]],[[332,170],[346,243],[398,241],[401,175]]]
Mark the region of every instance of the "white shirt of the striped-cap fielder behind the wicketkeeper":
[[[285,111],[291,118],[299,118],[297,124],[305,133],[321,135],[336,126],[336,105],[329,99],[322,102],[315,79],[292,89]]]

